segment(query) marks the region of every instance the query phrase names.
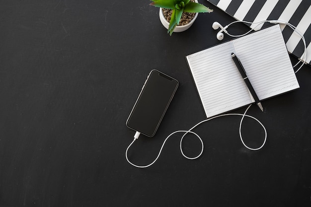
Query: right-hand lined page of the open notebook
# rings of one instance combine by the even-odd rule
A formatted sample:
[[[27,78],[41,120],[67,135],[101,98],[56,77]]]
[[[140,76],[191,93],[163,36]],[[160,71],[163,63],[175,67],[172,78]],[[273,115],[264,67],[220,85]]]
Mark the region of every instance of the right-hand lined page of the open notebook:
[[[299,88],[279,25],[233,40],[260,100]]]

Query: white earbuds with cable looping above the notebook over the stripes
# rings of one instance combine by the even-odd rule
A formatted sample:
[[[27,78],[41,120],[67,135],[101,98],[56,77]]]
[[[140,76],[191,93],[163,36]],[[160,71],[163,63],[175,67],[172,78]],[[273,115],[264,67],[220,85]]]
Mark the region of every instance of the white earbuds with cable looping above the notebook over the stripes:
[[[249,30],[248,32],[244,33],[244,34],[241,34],[241,35],[232,35],[232,34],[229,34],[229,32],[226,30],[230,25],[234,24],[234,23],[238,23],[238,22],[243,22],[243,23],[248,23],[248,24],[257,24],[254,28],[252,28],[251,30]],[[304,42],[304,53],[302,55],[302,57],[300,58],[300,61],[295,65],[293,66],[294,68],[299,64],[299,63],[302,63],[301,67],[299,69],[297,69],[295,72],[298,72],[302,67],[303,65],[305,65],[306,63],[306,60],[307,60],[307,46],[306,46],[306,40],[305,40],[305,37],[304,35],[297,30],[297,28],[289,23],[289,22],[286,22],[286,21],[283,21],[283,20],[263,20],[263,21],[259,21],[259,22],[249,22],[249,21],[233,21],[231,22],[230,24],[226,25],[225,27],[223,27],[220,23],[218,23],[217,21],[215,21],[212,25],[213,29],[217,30],[219,28],[221,28],[221,30],[217,33],[216,37],[218,40],[223,40],[224,39],[224,33],[225,32],[226,34],[228,34],[229,36],[231,37],[241,37],[241,36],[244,36],[244,35],[247,35],[248,33],[250,33],[251,31],[253,31],[256,27],[258,27],[259,25],[262,25],[263,23],[265,22],[269,22],[271,24],[283,24],[283,25],[288,25],[290,28],[292,28],[294,30],[294,32],[296,32],[299,36],[301,36],[303,42]]]

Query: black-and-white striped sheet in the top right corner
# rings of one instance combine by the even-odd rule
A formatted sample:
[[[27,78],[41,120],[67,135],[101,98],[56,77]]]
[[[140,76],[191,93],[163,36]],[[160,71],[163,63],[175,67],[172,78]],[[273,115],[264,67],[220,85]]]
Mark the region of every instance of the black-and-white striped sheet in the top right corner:
[[[311,0],[208,0],[229,13],[237,20],[258,22],[261,20],[283,20],[302,32],[307,44],[307,63],[311,62]],[[248,25],[255,30],[271,25],[264,23]],[[301,58],[304,44],[301,37],[289,26],[281,25],[286,47],[289,53]]]

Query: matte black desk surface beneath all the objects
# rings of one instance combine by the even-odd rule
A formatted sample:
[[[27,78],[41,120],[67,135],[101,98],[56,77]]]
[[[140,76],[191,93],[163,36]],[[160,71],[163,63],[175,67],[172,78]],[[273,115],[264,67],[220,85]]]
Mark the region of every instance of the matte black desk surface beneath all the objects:
[[[205,118],[184,56],[220,43],[214,21],[234,20],[201,0],[214,12],[169,37],[149,3],[1,0],[0,206],[310,206],[308,66],[297,73],[300,89],[263,101],[264,113],[250,108],[267,129],[263,149],[247,150],[240,117],[225,117],[195,130],[205,144],[197,160],[181,156],[178,135],[150,168],[127,163],[135,132],[125,122],[150,70],[180,86],[156,136],[141,136],[129,151],[141,165],[156,158],[171,132]],[[230,29],[245,31],[242,24]],[[262,142],[250,120],[243,134],[249,144]],[[184,148],[188,155],[200,151],[191,136]]]

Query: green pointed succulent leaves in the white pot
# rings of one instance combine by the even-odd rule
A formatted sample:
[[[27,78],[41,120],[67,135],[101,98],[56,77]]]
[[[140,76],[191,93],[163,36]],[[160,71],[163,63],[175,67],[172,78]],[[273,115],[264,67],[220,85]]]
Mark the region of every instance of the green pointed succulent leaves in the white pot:
[[[203,4],[192,2],[190,0],[151,0],[152,6],[172,9],[167,33],[172,35],[175,27],[179,24],[182,12],[198,13],[198,12],[212,12],[213,10]]]

